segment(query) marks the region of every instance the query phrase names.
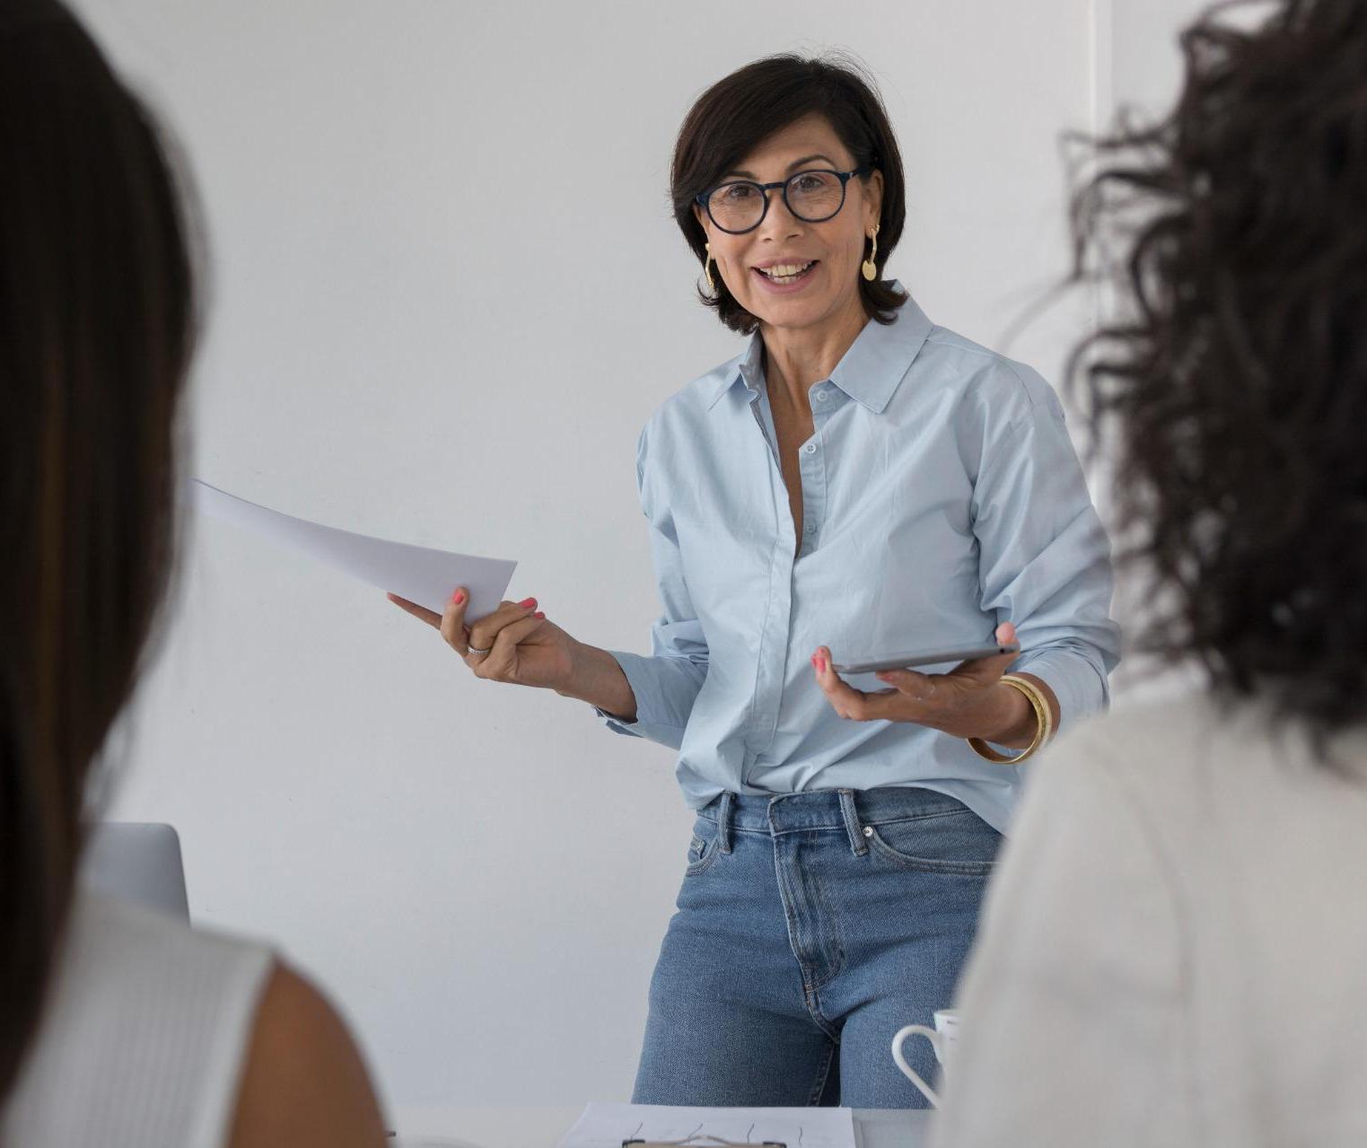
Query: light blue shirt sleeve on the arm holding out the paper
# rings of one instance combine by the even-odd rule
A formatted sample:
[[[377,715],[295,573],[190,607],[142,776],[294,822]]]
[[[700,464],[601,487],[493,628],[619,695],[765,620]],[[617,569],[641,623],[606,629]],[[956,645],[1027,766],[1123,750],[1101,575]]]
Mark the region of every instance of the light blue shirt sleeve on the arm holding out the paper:
[[[651,558],[663,612],[651,627],[649,656],[608,651],[636,694],[636,720],[623,722],[601,709],[596,712],[614,733],[678,749],[693,702],[707,679],[707,638],[689,597],[674,523],[667,508],[652,506],[647,482],[648,430],[641,432],[637,444],[636,480],[641,510],[649,522]]]

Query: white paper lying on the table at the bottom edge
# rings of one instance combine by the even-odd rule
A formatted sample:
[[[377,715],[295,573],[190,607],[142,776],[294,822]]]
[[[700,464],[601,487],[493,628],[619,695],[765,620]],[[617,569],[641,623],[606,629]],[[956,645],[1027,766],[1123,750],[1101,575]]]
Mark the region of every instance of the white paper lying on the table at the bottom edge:
[[[556,1148],[622,1148],[623,1141],[681,1140],[707,1148],[783,1144],[786,1148],[854,1148],[850,1108],[684,1108],[659,1104],[589,1104]]]

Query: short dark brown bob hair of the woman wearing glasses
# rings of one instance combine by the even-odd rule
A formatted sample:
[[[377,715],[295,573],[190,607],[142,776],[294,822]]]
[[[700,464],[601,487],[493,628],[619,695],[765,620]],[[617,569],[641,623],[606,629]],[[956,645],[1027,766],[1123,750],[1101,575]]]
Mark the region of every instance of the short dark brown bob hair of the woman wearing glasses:
[[[856,167],[872,164],[883,174],[875,260],[879,275],[874,282],[860,279],[858,290],[869,318],[891,323],[906,302],[906,294],[882,277],[906,220],[902,156],[872,78],[849,57],[766,56],[708,87],[685,116],[674,145],[670,172],[674,219],[693,254],[704,260],[707,232],[693,215],[696,197],[715,187],[775,131],[812,113],[827,119]],[[720,277],[715,298],[701,290],[699,297],[733,331],[749,335],[759,325]]]

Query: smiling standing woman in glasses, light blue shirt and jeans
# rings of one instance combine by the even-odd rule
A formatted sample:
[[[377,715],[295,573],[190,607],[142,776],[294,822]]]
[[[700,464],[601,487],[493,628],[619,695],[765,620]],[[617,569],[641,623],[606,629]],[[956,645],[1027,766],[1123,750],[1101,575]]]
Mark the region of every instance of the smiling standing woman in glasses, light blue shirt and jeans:
[[[722,79],[673,197],[704,302],[752,338],[640,439],[652,653],[580,642],[532,599],[469,620],[461,590],[444,615],[399,604],[477,676],[678,750],[699,817],[638,1102],[915,1106],[889,1043],[953,998],[1017,763],[1106,702],[1107,541],[1048,385],[883,277],[902,165],[854,70],[778,56]],[[833,668],[994,636],[1023,653]]]

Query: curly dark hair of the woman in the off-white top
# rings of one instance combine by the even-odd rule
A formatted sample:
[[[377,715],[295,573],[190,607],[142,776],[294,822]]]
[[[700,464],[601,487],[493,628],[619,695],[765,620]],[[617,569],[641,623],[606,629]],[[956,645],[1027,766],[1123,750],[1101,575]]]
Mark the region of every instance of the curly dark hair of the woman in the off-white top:
[[[1076,379],[1158,604],[1139,648],[1323,749],[1367,718],[1367,4],[1222,8],[1181,36],[1173,111],[1100,141],[1074,200],[1079,275],[1132,235]]]

